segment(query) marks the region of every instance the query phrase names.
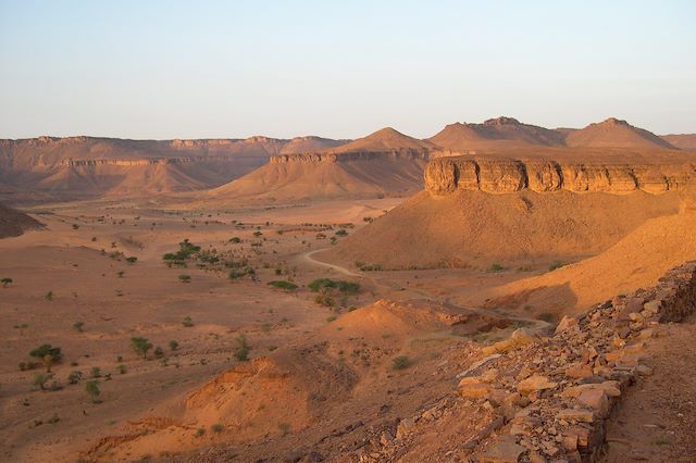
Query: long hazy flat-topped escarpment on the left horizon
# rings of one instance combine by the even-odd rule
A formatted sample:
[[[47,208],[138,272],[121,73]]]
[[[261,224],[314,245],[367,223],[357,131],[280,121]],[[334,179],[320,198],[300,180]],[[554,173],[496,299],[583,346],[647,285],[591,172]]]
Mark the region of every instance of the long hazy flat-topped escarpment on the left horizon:
[[[319,137],[124,140],[39,137],[0,140],[0,195],[30,201],[147,196],[215,187],[271,155],[343,143]]]

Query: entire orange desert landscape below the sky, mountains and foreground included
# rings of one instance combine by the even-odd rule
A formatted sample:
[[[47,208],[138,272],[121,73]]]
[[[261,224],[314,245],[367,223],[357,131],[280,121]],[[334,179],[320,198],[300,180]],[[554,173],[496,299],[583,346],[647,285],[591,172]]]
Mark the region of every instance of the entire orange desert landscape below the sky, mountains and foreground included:
[[[0,461],[694,461],[695,140],[0,140]]]

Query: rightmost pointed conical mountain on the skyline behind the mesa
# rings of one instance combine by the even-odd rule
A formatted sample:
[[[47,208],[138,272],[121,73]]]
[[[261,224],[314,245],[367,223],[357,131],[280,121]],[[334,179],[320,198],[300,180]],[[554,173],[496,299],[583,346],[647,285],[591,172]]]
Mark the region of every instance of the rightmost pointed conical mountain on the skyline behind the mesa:
[[[614,117],[571,132],[566,145],[571,148],[675,149],[651,132]]]

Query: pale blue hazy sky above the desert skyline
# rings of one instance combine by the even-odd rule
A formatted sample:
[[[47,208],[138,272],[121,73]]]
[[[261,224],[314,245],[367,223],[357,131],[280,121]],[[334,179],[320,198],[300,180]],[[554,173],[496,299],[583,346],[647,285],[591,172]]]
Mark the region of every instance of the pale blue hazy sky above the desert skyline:
[[[696,1],[0,0],[0,138],[696,133]]]

